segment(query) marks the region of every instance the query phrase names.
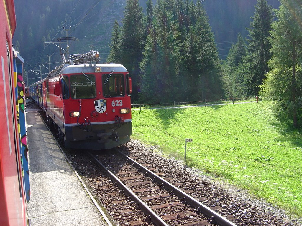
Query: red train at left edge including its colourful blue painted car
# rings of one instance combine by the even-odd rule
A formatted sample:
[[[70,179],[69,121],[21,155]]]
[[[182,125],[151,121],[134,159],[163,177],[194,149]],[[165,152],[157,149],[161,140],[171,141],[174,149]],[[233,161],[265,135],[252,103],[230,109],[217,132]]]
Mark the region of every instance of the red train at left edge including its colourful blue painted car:
[[[13,0],[0,2],[0,225],[30,225],[30,199],[24,115],[23,58],[12,48],[16,28]]]

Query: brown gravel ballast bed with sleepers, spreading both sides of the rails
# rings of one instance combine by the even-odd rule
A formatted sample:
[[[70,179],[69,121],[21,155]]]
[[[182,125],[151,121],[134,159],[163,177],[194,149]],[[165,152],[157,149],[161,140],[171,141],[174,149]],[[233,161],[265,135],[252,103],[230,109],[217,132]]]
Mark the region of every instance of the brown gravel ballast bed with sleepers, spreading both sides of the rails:
[[[40,113],[45,120],[45,114],[42,111]],[[50,130],[54,137],[57,137],[56,130],[51,127]],[[95,158],[107,168],[103,170],[91,156],[87,155],[86,151],[61,148],[99,205],[106,209],[106,215],[114,225],[157,225],[152,218],[164,221],[165,224],[159,221],[159,225],[223,225],[220,217],[212,217],[212,211],[231,221],[227,225],[233,223],[238,226],[300,225],[296,220],[284,218],[281,212],[275,210],[271,212],[272,206],[262,206],[262,204],[258,206],[253,203],[254,201],[243,200],[230,194],[217,184],[199,178],[196,172],[184,168],[181,161],[166,159],[156,154],[153,150],[155,148],[147,148],[137,141],[130,141],[129,144],[120,146],[118,149],[143,165],[140,169],[137,169],[136,164],[130,164],[128,158],[122,157],[113,150],[94,152]],[[153,173],[143,172],[144,168],[148,168]],[[144,204],[140,202],[137,204],[134,201],[135,198],[124,192],[128,189],[118,187],[111,174],[106,175],[106,173],[109,174],[108,170]],[[165,188],[162,184],[164,182],[154,178],[154,174],[165,178],[174,187],[210,207],[212,211],[202,214],[198,206],[196,207],[194,203],[190,204],[196,201],[188,201],[189,199],[182,196],[178,197],[178,192],[175,192],[177,190],[174,187]],[[148,196],[149,198],[144,198]],[[152,214],[144,213],[144,205],[158,216],[151,217]]]

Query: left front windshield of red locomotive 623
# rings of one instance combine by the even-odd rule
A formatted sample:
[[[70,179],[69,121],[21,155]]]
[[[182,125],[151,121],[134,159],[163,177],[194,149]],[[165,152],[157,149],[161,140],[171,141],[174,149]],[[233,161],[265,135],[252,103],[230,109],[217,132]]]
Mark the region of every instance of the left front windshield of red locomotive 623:
[[[70,76],[72,99],[95,98],[95,76],[93,74],[74,74]]]

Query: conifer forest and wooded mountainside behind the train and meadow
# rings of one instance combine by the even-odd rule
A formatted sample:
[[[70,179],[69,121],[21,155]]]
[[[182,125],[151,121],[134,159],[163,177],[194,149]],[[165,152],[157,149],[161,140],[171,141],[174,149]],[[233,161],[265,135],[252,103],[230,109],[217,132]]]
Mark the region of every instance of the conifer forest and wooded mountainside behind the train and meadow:
[[[275,101],[294,127],[302,125],[302,0],[15,4],[13,44],[25,60],[27,85],[40,79],[32,71],[44,78],[59,65],[59,48],[50,42],[68,35],[79,39],[69,43],[70,54],[94,49],[101,62],[127,68],[134,104],[259,96]]]

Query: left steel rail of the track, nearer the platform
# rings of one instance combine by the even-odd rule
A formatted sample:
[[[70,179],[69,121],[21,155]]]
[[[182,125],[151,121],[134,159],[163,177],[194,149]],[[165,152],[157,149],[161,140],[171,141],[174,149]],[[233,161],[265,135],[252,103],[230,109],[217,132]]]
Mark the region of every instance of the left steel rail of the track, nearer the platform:
[[[142,211],[150,216],[152,219],[153,223],[158,225],[158,226],[169,226],[168,224],[165,223],[165,221],[162,220],[155,212],[153,212],[152,209],[150,209],[139,197],[137,197],[122,181],[120,181],[110,170],[106,168],[98,159],[95,158],[94,155],[92,155],[90,152],[88,154],[107,172],[107,175],[111,177],[111,179],[117,183],[117,186],[120,189],[123,189],[124,193],[127,196],[130,196],[132,200],[140,206]]]

